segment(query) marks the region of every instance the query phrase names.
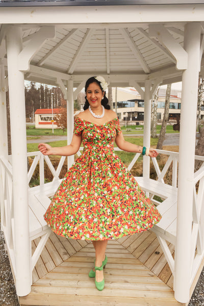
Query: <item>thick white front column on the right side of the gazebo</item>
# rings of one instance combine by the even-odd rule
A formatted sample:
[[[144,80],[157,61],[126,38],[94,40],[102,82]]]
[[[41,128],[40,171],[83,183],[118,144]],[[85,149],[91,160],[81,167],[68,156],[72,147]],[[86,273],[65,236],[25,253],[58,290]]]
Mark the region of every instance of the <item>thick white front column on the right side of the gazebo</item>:
[[[180,154],[178,176],[177,237],[175,248],[175,299],[189,301],[190,254],[192,233],[193,173],[197,113],[200,24],[187,23],[184,48],[188,53],[188,69],[183,72]]]

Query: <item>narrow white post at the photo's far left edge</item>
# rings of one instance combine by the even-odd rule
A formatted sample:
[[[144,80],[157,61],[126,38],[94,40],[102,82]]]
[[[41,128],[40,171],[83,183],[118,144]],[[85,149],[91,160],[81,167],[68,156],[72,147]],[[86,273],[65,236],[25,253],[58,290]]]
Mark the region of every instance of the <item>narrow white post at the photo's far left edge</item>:
[[[0,60],[0,156],[8,158],[6,84],[4,63]]]

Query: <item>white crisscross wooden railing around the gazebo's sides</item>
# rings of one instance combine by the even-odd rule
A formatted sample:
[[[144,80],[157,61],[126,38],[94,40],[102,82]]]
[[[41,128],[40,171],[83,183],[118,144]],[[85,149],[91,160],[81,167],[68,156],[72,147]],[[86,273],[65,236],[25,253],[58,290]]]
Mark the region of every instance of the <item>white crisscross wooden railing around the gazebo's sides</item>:
[[[78,156],[81,155],[80,147]],[[114,148],[115,151],[121,151],[119,148]],[[169,170],[172,176],[172,186],[177,187],[177,168],[179,163],[179,153],[165,150],[158,150],[160,157],[162,155],[167,156],[167,160],[163,169],[160,169],[159,158],[152,158],[152,164],[157,173],[157,180],[164,183],[165,175]],[[127,167],[130,171],[138,160],[140,154],[136,154],[131,163]],[[39,168],[39,185],[44,184],[44,168],[45,163],[53,174],[53,181],[59,180],[59,175],[64,165],[66,157],[61,157],[57,169],[55,169],[52,161],[48,156],[43,156],[40,151],[28,153],[28,157],[34,157],[33,162],[28,171],[28,185],[32,179],[32,176]],[[11,159],[9,159],[11,160]],[[204,256],[204,157],[195,156],[195,160],[202,161],[202,165],[199,170],[194,173],[194,200],[193,200],[193,216],[192,216],[192,282],[197,272],[197,269]],[[1,200],[1,221],[2,229],[4,231],[7,249],[12,263],[12,268],[15,273],[15,249],[14,249],[14,214],[13,214],[13,189],[12,189],[12,166],[11,162],[5,158],[0,158],[0,200]],[[196,186],[199,183],[199,187]],[[152,196],[152,195],[151,195]],[[153,197],[153,196],[152,196]]]

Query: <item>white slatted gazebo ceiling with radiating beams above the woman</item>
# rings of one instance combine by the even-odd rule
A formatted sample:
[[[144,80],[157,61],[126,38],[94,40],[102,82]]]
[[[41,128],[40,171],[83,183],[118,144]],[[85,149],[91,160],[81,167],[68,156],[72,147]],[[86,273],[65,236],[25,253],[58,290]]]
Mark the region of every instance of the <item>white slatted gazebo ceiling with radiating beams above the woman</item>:
[[[184,25],[184,22],[165,25],[181,46],[184,41]],[[51,27],[53,24],[46,26]],[[81,24],[80,27],[69,27],[70,25],[56,25],[55,37],[47,39],[32,58],[31,68],[25,73],[25,79],[56,85],[55,74],[39,70],[39,67],[71,76],[76,86],[87,75],[96,74],[107,75],[108,78],[110,75],[109,83],[112,86],[114,83],[118,85],[118,82],[118,86],[130,86],[133,75],[137,75],[138,79],[133,79],[143,86],[146,75],[156,73],[157,76],[159,73],[160,77],[161,71],[164,71],[164,79],[175,77],[176,82],[180,78],[182,71],[175,70],[175,58],[157,38],[149,36],[146,23],[139,23],[137,27],[136,24],[125,24],[123,27],[122,24],[92,24],[90,27]],[[40,27],[24,24],[22,29],[25,46]],[[112,75],[130,77],[121,80],[115,78],[114,81],[111,79]],[[163,83],[167,83],[164,79]]]

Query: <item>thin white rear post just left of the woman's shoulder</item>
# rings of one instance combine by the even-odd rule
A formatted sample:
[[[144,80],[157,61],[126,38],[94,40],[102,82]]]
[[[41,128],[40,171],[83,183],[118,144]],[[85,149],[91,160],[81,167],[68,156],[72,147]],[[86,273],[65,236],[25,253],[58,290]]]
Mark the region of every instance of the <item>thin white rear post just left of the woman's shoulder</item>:
[[[73,136],[73,81],[67,81],[67,144],[71,143]],[[68,156],[67,168],[74,162],[74,156]]]

